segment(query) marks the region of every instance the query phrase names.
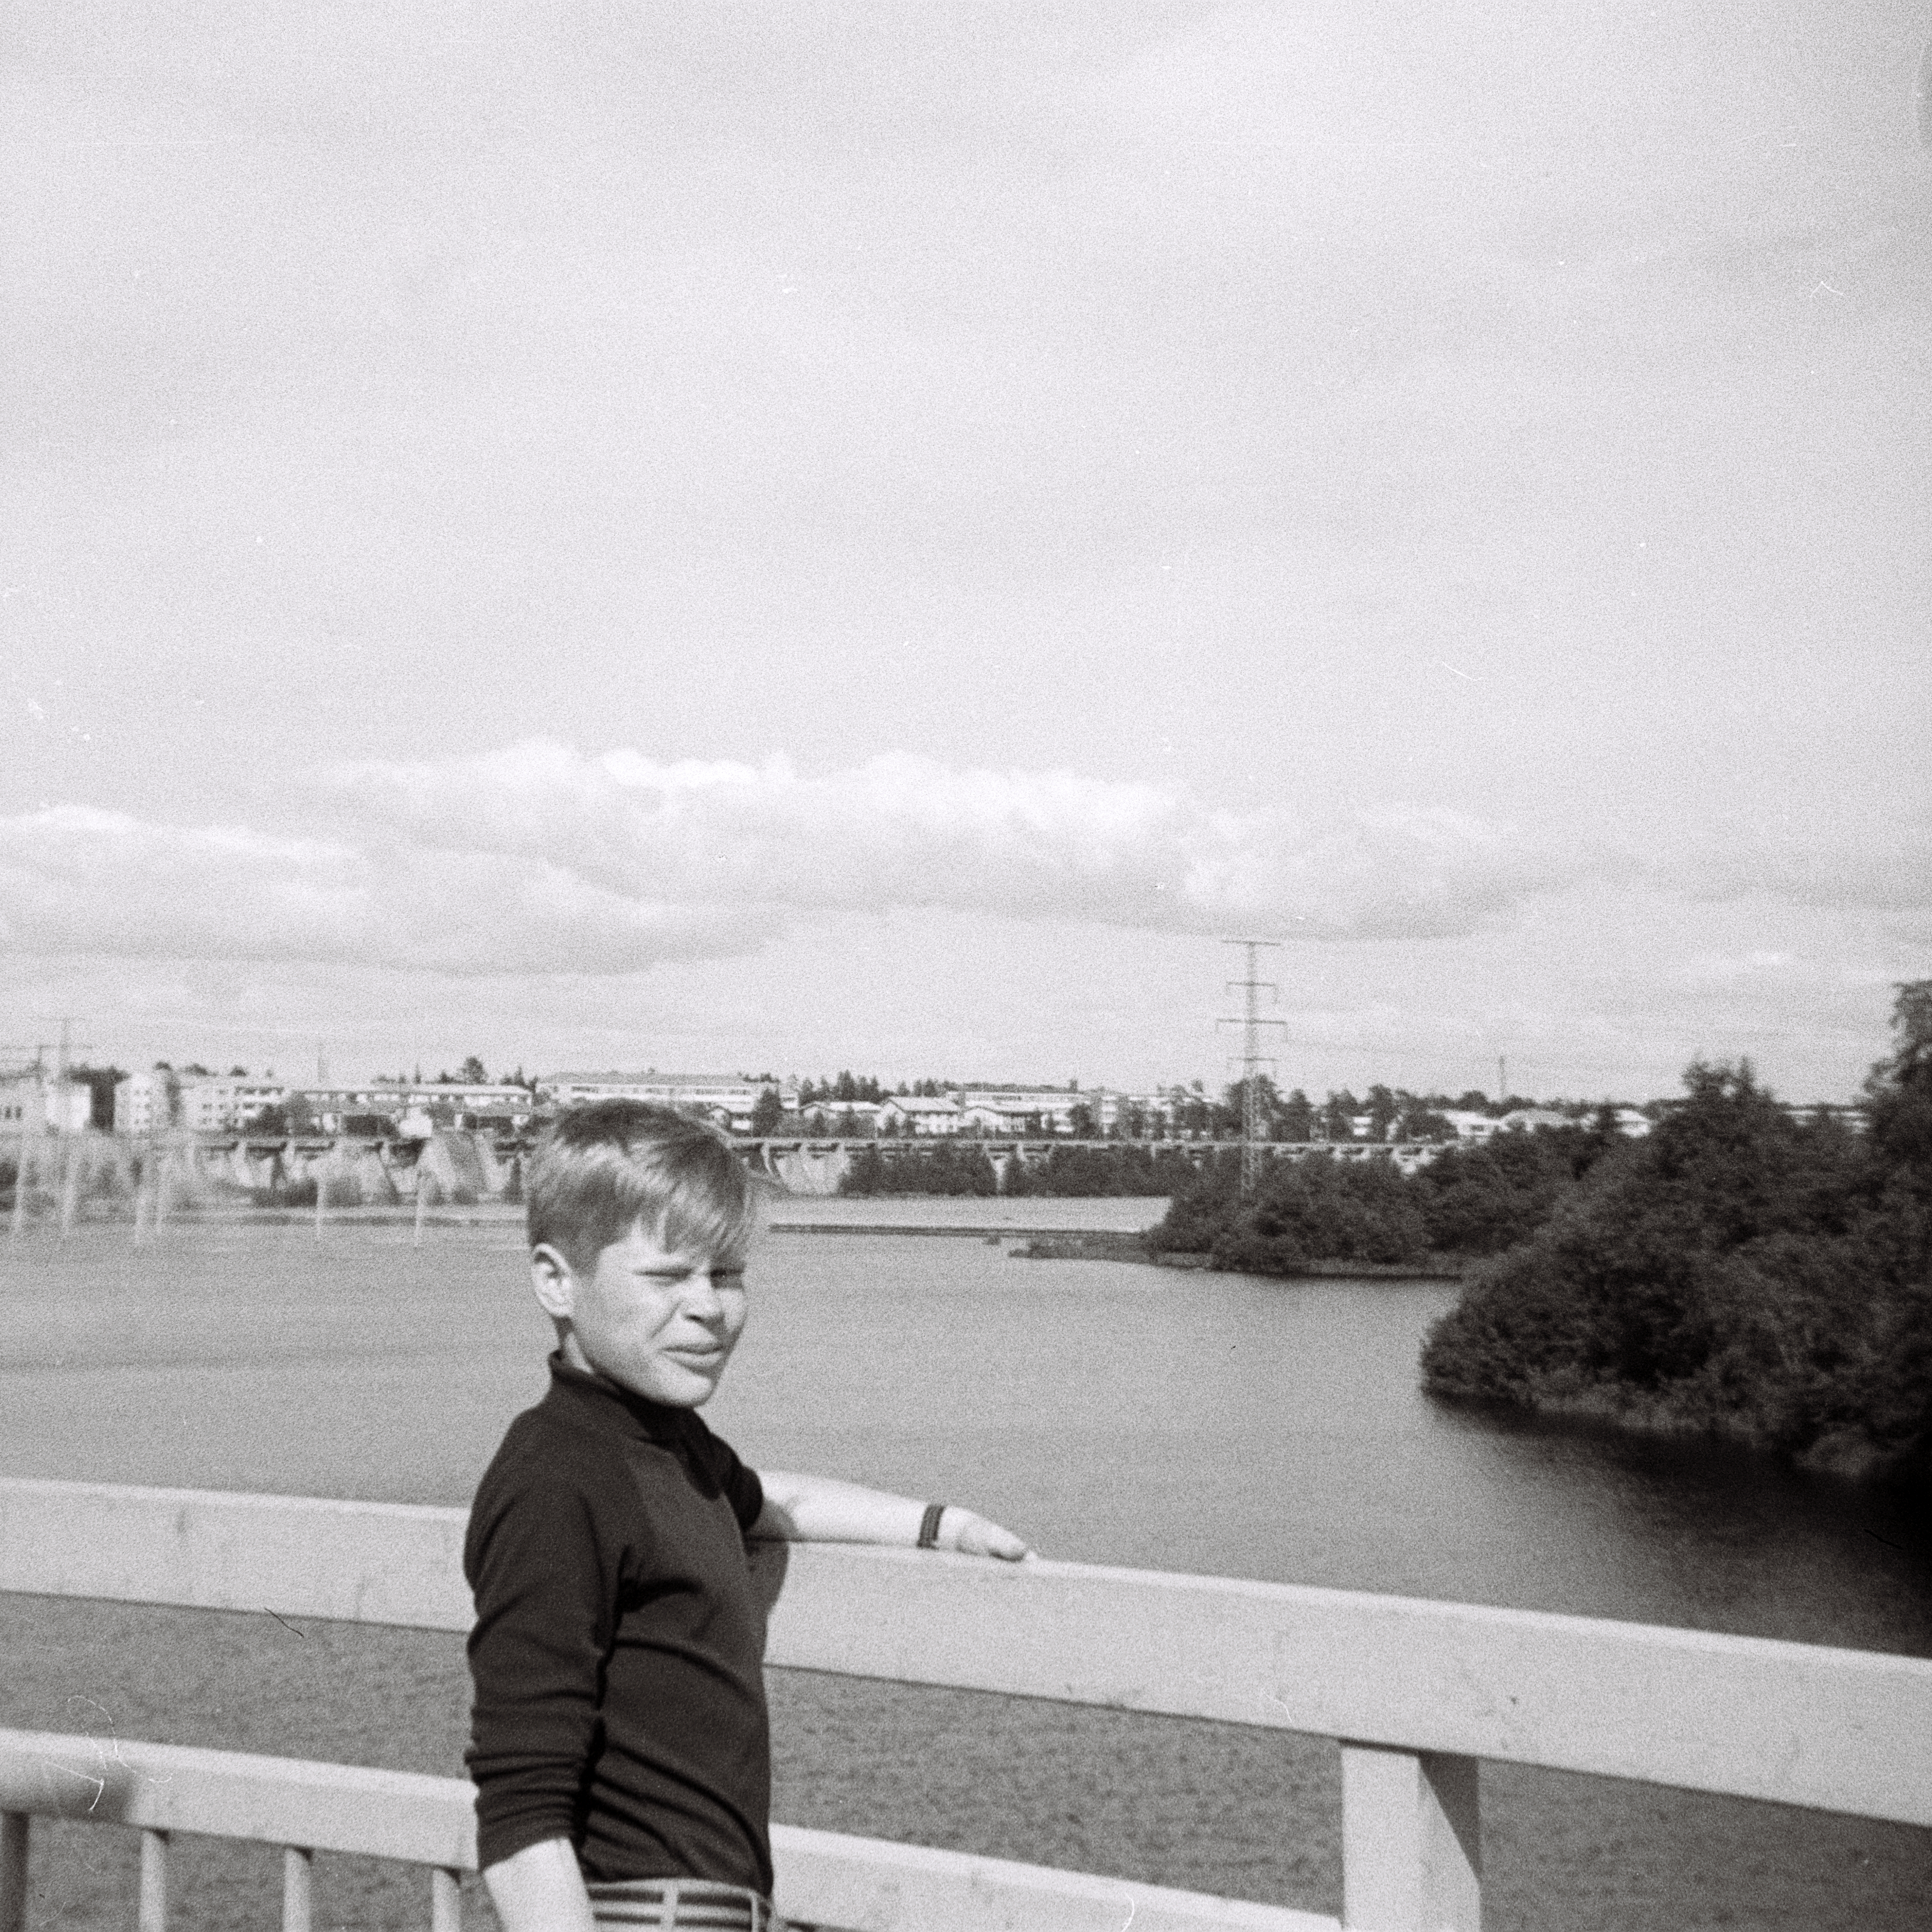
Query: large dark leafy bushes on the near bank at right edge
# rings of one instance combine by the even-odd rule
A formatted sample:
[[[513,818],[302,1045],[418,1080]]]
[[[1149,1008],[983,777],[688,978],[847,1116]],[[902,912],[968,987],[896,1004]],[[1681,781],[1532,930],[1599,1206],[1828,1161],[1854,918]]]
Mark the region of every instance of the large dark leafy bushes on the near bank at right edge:
[[[1932,1484],[1932,981],[1895,1032],[1864,1134],[1692,1066],[1687,1105],[1468,1283],[1426,1387]]]

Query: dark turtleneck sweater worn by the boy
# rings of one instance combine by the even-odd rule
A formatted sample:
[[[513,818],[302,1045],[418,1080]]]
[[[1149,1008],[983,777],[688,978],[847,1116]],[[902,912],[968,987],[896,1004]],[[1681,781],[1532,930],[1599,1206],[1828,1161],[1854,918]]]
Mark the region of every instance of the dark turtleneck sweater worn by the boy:
[[[771,1893],[757,1474],[692,1408],[551,1356],[469,1511],[477,1855]]]

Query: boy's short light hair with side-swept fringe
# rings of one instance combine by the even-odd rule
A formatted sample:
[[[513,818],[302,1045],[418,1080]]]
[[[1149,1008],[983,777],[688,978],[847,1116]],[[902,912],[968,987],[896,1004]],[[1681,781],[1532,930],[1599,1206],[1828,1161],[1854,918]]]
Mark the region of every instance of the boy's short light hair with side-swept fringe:
[[[531,1248],[578,1269],[639,1223],[672,1252],[732,1262],[757,1227],[752,1177],[723,1136],[639,1099],[566,1107],[537,1142],[527,1198]]]

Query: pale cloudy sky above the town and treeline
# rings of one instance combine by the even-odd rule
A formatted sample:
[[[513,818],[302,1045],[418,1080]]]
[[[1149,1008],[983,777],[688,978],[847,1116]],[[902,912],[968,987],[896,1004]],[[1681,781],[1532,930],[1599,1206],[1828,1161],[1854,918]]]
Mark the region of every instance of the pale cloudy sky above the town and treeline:
[[[15,0],[0,1053],[1851,1097],[1928,33]]]

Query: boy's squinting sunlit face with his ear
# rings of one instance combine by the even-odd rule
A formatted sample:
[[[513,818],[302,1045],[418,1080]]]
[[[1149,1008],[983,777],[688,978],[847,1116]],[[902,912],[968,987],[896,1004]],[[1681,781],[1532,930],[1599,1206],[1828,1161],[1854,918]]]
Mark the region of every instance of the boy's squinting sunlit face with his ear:
[[[744,1264],[672,1252],[639,1223],[589,1271],[529,1258],[537,1300],[566,1320],[564,1360],[670,1408],[711,1399],[744,1329]]]

